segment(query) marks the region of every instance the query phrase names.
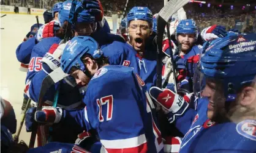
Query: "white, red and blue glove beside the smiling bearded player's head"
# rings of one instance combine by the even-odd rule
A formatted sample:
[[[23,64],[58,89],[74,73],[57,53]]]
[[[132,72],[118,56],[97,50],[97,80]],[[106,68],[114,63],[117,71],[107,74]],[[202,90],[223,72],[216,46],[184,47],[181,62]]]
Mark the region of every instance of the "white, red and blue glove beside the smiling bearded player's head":
[[[227,31],[225,30],[224,26],[218,26],[214,24],[211,27],[206,27],[201,31],[201,37],[203,40],[214,40],[216,38],[223,38],[227,35]]]

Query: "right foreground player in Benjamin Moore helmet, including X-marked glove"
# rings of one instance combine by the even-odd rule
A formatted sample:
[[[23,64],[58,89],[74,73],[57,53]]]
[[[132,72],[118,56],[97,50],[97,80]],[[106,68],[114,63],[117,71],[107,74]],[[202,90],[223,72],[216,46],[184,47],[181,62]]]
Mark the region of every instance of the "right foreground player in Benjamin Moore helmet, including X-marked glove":
[[[190,123],[179,152],[255,152],[255,34],[228,35],[214,41],[200,59],[195,74],[199,93],[195,109],[171,107],[178,95],[152,88],[150,94],[171,119]],[[242,45],[245,44],[245,45]],[[236,46],[238,49],[236,49]],[[250,48],[250,49],[249,49]],[[246,49],[246,52],[243,52]],[[249,49],[249,50],[248,50]],[[197,75],[198,74],[198,75]],[[201,90],[200,90],[201,89]],[[173,97],[162,101],[165,96]],[[191,103],[191,102],[190,102]],[[186,113],[181,113],[185,112]],[[179,116],[178,113],[181,113]],[[210,128],[209,128],[210,127]],[[186,130],[184,130],[185,132]],[[202,149],[204,148],[204,149]]]

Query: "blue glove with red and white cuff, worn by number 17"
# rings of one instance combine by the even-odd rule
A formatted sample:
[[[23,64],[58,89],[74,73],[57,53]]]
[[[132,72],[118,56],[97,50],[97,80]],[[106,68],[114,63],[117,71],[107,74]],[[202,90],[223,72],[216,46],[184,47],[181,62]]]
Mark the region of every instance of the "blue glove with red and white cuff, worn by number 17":
[[[36,111],[36,107],[32,107],[26,112],[26,131],[31,132],[33,127],[36,126],[36,122],[49,125],[59,123],[62,116],[64,116],[64,111],[59,107],[44,106],[39,111]]]

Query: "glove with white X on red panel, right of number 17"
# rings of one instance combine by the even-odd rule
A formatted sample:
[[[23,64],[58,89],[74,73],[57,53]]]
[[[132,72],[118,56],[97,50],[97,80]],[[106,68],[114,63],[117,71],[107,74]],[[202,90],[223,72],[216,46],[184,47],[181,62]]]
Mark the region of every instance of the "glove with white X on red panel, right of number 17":
[[[187,95],[180,96],[169,89],[160,89],[158,87],[151,87],[149,95],[154,101],[162,106],[164,112],[168,113],[168,120],[170,123],[175,121],[175,116],[183,115],[190,101]]]

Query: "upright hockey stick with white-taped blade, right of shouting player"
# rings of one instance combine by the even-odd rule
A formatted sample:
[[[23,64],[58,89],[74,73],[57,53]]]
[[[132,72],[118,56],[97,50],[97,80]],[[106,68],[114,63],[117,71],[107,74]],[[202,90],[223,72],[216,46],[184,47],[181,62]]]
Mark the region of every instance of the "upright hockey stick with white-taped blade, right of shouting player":
[[[176,0],[170,0],[160,10],[159,15],[157,16],[157,82],[156,82],[156,85],[159,88],[162,88],[162,40],[164,36],[165,26],[168,20],[170,19],[171,15],[177,12],[181,7],[186,5],[189,1],[190,0],[179,0],[176,2]],[[171,56],[171,58],[173,58],[173,56]]]

